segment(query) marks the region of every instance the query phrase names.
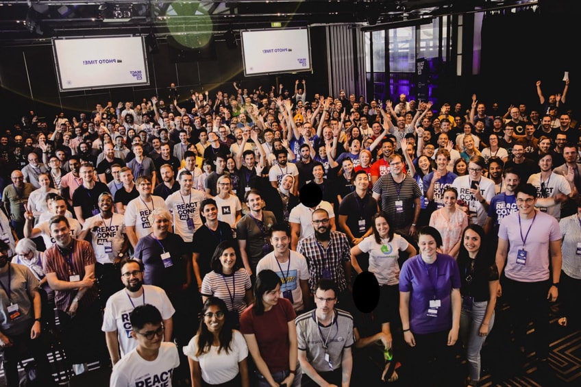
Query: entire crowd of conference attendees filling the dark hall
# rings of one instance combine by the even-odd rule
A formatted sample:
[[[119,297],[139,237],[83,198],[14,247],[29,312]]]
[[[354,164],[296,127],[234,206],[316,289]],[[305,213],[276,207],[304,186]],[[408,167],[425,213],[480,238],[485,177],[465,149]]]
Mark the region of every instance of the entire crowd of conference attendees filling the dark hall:
[[[497,329],[546,369],[550,303],[581,325],[581,132],[569,81],[536,86],[506,112],[299,80],[30,112],[0,135],[8,386],[23,347],[50,373],[55,325],[115,387],[475,386]]]

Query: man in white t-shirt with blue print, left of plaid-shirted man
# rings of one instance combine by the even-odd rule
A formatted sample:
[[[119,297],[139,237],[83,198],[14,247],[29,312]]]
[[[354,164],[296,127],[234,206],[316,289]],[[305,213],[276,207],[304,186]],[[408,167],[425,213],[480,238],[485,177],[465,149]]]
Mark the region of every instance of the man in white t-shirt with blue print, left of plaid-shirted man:
[[[304,255],[292,251],[290,247],[290,228],[286,223],[271,227],[271,245],[274,251],[264,255],[256,265],[256,274],[270,269],[281,278],[282,297],[293,303],[297,314],[309,310],[308,266]]]

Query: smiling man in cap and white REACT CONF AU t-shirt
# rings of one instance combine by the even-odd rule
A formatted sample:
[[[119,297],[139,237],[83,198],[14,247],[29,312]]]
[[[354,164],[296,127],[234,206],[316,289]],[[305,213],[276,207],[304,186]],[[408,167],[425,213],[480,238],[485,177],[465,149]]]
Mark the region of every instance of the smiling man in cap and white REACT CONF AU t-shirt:
[[[109,192],[99,195],[99,214],[85,221],[84,230],[92,235],[91,245],[95,251],[95,277],[99,281],[99,299],[104,307],[107,299],[122,288],[117,269],[121,258],[129,247],[125,235],[123,215],[113,213],[113,197]]]

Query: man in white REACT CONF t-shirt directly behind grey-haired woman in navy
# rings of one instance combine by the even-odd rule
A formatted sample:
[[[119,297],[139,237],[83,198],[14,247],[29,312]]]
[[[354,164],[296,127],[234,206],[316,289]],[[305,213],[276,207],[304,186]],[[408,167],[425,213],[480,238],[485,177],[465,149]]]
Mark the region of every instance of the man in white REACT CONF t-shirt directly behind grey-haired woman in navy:
[[[139,238],[149,235],[151,223],[149,214],[156,208],[167,209],[162,197],[151,195],[151,180],[147,176],[140,176],[135,182],[139,197],[129,201],[125,208],[125,232],[129,242],[135,249]]]

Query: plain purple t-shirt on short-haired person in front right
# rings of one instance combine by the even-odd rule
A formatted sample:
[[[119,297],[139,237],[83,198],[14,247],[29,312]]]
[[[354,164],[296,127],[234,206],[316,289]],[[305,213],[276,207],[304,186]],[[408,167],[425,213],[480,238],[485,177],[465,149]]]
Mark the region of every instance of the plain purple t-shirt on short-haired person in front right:
[[[410,329],[414,334],[430,334],[452,328],[452,289],[460,289],[456,260],[439,254],[427,264],[421,255],[404,262],[399,273],[399,291],[410,292]],[[439,300],[436,316],[428,315],[430,300]],[[433,308],[430,308],[433,309]]]

